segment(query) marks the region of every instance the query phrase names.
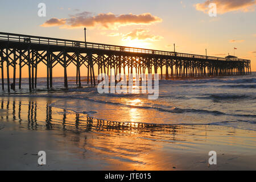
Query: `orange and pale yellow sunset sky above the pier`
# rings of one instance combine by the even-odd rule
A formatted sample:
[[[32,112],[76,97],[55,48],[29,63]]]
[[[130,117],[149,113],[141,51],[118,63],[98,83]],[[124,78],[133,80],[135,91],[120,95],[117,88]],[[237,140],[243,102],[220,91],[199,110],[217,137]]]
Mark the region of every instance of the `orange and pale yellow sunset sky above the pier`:
[[[38,16],[39,3],[46,5],[46,16]],[[216,16],[209,15],[209,3],[216,5]],[[256,71],[255,8],[255,0],[1,0],[0,31],[84,40],[86,27],[88,42],[164,51],[174,51],[175,43],[177,52],[205,55],[207,49],[219,57],[233,55],[236,47],[235,55],[250,59]],[[75,75],[72,68],[68,75]]]

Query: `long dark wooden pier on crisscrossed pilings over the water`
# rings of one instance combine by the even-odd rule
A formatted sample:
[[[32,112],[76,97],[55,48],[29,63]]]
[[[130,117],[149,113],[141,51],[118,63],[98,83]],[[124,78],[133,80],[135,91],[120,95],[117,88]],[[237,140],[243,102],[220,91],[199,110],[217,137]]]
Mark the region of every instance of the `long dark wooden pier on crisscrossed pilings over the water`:
[[[158,51],[152,49],[114,46],[46,38],[41,36],[10,34],[0,32],[0,68],[2,90],[5,90],[4,69],[6,69],[7,90],[15,90],[16,69],[19,69],[19,89],[22,86],[22,68],[28,69],[30,91],[36,88],[38,65],[47,69],[47,89],[52,88],[52,69],[60,64],[64,69],[64,86],[68,88],[67,67],[76,66],[76,83],[81,86],[81,69],[87,68],[87,83],[96,85],[96,73],[158,73],[160,78],[231,76],[251,73],[250,60],[226,59],[223,57],[193,55],[189,53]],[[10,83],[10,69],[13,82]],[[128,70],[128,72],[127,72]]]

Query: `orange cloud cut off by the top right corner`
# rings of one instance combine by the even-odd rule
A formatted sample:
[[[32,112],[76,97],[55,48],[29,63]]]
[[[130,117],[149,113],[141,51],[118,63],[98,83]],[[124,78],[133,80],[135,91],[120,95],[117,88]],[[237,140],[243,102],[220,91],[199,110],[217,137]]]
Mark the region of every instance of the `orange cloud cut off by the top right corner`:
[[[196,10],[208,13],[210,3],[216,3],[218,14],[224,14],[230,11],[254,11],[256,5],[255,0],[207,0],[203,3],[197,3],[194,6]]]

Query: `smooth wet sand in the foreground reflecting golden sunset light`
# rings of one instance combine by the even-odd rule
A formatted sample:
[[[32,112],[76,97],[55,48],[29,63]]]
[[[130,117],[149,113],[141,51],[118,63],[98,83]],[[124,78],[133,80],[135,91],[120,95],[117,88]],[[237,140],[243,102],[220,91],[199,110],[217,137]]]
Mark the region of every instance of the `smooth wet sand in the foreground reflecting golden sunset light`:
[[[1,170],[255,170],[256,132],[89,118],[51,98],[2,97]],[[36,154],[46,151],[46,165]],[[208,165],[209,151],[217,165]]]

